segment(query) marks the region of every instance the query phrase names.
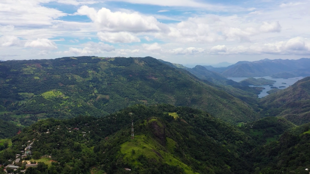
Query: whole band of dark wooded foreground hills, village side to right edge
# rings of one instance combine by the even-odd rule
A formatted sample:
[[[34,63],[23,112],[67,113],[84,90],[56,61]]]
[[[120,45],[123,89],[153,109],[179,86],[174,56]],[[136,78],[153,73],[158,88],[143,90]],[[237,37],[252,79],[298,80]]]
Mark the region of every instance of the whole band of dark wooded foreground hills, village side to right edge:
[[[33,142],[32,155],[23,160],[49,165],[40,162],[26,174],[292,173],[310,167],[309,124],[295,127],[268,117],[251,127],[238,128],[189,107],[135,105],[106,117],[38,121],[12,138],[0,163],[11,163],[8,159]],[[280,138],[266,143],[257,130]]]

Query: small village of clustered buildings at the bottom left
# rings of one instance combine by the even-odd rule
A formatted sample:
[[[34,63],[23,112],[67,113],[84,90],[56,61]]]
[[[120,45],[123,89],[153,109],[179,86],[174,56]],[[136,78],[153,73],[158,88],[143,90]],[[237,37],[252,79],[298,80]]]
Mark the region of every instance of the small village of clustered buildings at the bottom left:
[[[33,142],[27,141],[27,144],[24,145],[25,149],[20,151],[20,154],[15,154],[15,159],[10,159],[9,161],[12,162],[12,164],[8,164],[4,167],[4,171],[13,174],[13,173],[24,173],[29,167],[38,167],[38,164],[33,161],[27,161],[27,159],[30,159],[31,147],[33,145]],[[0,164],[0,167],[2,167],[2,164]]]

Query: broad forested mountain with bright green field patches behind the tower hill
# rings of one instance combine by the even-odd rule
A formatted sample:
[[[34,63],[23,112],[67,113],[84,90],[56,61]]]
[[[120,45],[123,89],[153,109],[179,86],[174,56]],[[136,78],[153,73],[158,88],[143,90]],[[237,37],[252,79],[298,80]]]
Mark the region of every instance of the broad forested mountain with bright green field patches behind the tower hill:
[[[156,103],[201,108],[234,123],[259,117],[223,89],[151,57],[12,60],[0,63],[0,69],[1,118],[22,125]]]

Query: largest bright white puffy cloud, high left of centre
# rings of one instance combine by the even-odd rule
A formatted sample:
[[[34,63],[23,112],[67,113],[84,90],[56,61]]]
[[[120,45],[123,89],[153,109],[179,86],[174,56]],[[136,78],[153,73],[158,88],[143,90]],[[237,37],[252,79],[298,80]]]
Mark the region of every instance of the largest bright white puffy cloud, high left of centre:
[[[112,12],[107,8],[96,11],[94,8],[82,6],[75,15],[88,16],[102,31],[152,32],[161,31],[165,26],[153,16],[141,15],[138,12]]]

